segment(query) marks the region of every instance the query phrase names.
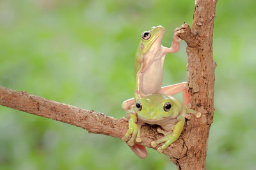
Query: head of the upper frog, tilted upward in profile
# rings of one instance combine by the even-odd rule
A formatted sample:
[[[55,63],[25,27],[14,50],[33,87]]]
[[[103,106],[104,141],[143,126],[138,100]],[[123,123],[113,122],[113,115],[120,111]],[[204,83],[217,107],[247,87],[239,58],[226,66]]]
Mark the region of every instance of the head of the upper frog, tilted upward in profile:
[[[148,52],[150,48],[160,48],[163,40],[165,29],[161,25],[152,27],[149,31],[141,34],[140,49],[142,53]]]

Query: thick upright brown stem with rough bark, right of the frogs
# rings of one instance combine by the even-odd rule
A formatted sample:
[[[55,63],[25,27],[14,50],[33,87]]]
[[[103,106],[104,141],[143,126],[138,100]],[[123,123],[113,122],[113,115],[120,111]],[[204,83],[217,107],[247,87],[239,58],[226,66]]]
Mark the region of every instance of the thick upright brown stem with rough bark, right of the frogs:
[[[185,155],[171,159],[177,169],[205,169],[207,139],[214,114],[214,69],[212,34],[217,0],[196,0],[192,28],[186,25],[180,38],[188,44],[187,76],[191,105],[201,118],[187,122],[182,138]]]

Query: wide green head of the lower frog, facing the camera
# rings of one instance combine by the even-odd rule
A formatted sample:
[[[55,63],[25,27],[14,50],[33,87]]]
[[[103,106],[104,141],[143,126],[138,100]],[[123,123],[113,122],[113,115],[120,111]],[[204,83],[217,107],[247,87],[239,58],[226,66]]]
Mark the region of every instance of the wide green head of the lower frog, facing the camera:
[[[135,106],[138,118],[148,124],[154,124],[166,118],[177,117],[184,105],[175,97],[152,94],[139,98]]]

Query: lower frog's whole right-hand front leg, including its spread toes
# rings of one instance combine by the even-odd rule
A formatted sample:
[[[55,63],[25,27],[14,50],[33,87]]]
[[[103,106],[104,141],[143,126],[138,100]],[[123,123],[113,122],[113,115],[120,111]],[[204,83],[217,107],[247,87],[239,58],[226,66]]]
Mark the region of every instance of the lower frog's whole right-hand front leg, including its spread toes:
[[[168,146],[170,146],[174,141],[176,141],[179,138],[180,133],[182,132],[182,129],[184,127],[185,118],[182,117],[182,116],[179,116],[179,117],[177,117],[177,120],[179,122],[177,122],[177,124],[175,125],[175,127],[173,129],[173,132],[165,132],[160,127],[157,128],[157,132],[159,132],[161,134],[164,134],[163,138],[158,139],[157,141],[152,141],[151,142],[151,146],[153,148],[156,148],[157,145],[159,145],[160,143],[164,142],[164,145],[162,145],[159,148],[157,148],[157,152],[163,153],[163,151]]]

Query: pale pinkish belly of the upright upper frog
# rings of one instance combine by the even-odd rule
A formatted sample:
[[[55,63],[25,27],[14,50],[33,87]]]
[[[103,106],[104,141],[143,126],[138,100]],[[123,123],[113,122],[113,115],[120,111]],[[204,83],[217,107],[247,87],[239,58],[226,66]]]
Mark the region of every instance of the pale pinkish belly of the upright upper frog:
[[[145,95],[155,94],[163,83],[163,64],[161,60],[154,61],[152,66],[146,69],[141,78],[141,92]]]

